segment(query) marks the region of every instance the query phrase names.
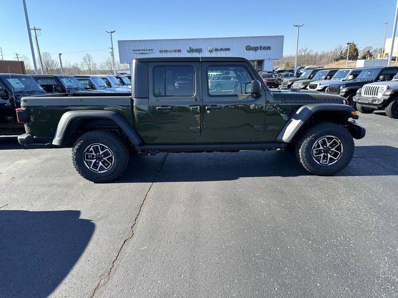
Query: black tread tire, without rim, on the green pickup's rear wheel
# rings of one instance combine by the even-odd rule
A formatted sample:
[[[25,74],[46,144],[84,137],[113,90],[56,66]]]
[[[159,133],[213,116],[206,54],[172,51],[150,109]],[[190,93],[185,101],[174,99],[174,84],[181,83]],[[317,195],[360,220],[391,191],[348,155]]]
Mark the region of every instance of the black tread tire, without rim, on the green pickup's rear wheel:
[[[85,150],[93,144],[103,144],[113,153],[111,167],[105,172],[95,172],[84,161]],[[117,179],[126,169],[129,151],[124,142],[109,131],[91,131],[82,135],[72,148],[72,161],[75,169],[85,179],[95,183],[109,182]]]

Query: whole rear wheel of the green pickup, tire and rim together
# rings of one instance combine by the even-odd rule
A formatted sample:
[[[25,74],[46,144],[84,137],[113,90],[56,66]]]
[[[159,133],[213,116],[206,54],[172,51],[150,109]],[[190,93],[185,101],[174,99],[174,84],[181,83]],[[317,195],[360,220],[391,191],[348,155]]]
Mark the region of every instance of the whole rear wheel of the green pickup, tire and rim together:
[[[81,136],[72,149],[72,161],[87,180],[103,183],[118,178],[128,164],[124,142],[109,131],[91,131]]]

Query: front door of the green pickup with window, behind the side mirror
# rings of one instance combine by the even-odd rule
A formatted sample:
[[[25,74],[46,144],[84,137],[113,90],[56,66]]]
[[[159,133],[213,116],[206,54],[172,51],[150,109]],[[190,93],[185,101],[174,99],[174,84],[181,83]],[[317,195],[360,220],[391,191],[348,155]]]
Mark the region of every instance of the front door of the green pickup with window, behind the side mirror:
[[[217,72],[223,75],[209,76]],[[202,63],[203,131],[212,140],[259,139],[264,135],[265,92],[253,98],[245,85],[257,79],[246,64]]]

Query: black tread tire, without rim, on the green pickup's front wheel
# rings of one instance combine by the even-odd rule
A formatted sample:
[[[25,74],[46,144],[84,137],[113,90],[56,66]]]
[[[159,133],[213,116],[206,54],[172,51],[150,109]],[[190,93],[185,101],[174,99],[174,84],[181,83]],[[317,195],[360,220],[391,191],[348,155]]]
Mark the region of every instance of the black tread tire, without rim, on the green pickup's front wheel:
[[[317,140],[324,136],[338,138],[343,146],[340,158],[333,164],[318,164],[312,157],[312,148]],[[354,155],[354,140],[342,126],[332,122],[321,122],[310,126],[298,139],[296,156],[298,162],[310,173],[319,176],[330,176],[344,169]]]

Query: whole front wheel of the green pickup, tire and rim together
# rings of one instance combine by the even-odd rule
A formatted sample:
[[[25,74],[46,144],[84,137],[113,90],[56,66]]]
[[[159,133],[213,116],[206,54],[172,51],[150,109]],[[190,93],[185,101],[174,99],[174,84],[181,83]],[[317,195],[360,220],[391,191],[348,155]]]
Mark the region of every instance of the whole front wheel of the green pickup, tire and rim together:
[[[354,140],[344,127],[322,122],[302,133],[296,145],[296,155],[308,172],[330,176],[350,163],[354,147]]]

